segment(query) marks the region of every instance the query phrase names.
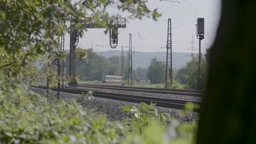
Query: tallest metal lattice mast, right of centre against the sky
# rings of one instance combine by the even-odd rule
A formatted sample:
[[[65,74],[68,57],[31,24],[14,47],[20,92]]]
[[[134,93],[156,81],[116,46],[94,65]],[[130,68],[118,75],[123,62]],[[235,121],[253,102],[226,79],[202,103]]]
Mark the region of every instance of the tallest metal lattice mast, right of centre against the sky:
[[[171,19],[168,19],[168,28],[167,28],[165,88],[167,88],[167,83],[170,83],[170,86],[172,86],[172,23],[171,23]]]

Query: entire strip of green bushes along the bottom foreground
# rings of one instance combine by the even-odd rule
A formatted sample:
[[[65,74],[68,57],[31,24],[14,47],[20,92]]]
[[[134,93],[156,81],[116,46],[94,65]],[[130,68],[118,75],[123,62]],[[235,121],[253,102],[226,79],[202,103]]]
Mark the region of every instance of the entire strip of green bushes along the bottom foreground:
[[[109,122],[75,101],[46,100],[20,86],[0,93],[0,104],[2,143],[192,143],[197,127],[145,103],[124,106],[132,118]]]

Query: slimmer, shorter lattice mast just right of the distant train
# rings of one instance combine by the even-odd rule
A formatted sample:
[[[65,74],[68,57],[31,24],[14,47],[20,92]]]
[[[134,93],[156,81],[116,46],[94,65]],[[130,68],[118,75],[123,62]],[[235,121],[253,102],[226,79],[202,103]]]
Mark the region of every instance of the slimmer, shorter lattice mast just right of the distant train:
[[[132,85],[132,37],[130,33],[130,38],[129,38],[129,54],[128,54],[128,86],[129,82],[131,80],[131,85]]]

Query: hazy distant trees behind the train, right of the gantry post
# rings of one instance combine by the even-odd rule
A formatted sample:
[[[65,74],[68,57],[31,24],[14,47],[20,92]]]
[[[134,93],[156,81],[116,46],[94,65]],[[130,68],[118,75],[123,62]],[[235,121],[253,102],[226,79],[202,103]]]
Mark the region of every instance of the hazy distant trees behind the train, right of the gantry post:
[[[79,52],[78,52],[79,51]],[[120,57],[110,58],[97,55],[92,49],[78,49],[77,74],[82,81],[101,81],[102,75],[120,75]],[[84,62],[86,60],[86,62]],[[65,61],[67,75],[69,74],[69,53]]]

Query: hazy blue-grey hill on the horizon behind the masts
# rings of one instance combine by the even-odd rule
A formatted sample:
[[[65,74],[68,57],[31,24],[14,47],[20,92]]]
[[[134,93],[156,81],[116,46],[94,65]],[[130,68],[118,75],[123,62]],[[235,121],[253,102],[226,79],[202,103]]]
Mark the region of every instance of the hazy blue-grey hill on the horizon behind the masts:
[[[104,57],[121,56],[121,51],[102,51],[96,52],[97,55]],[[124,57],[127,57],[127,51],[124,51]],[[166,52],[135,52],[132,54],[133,68],[149,67],[152,58],[156,57],[158,61],[166,62]],[[179,69],[185,66],[187,62],[191,61],[191,53],[173,52],[172,53],[172,67]]]

